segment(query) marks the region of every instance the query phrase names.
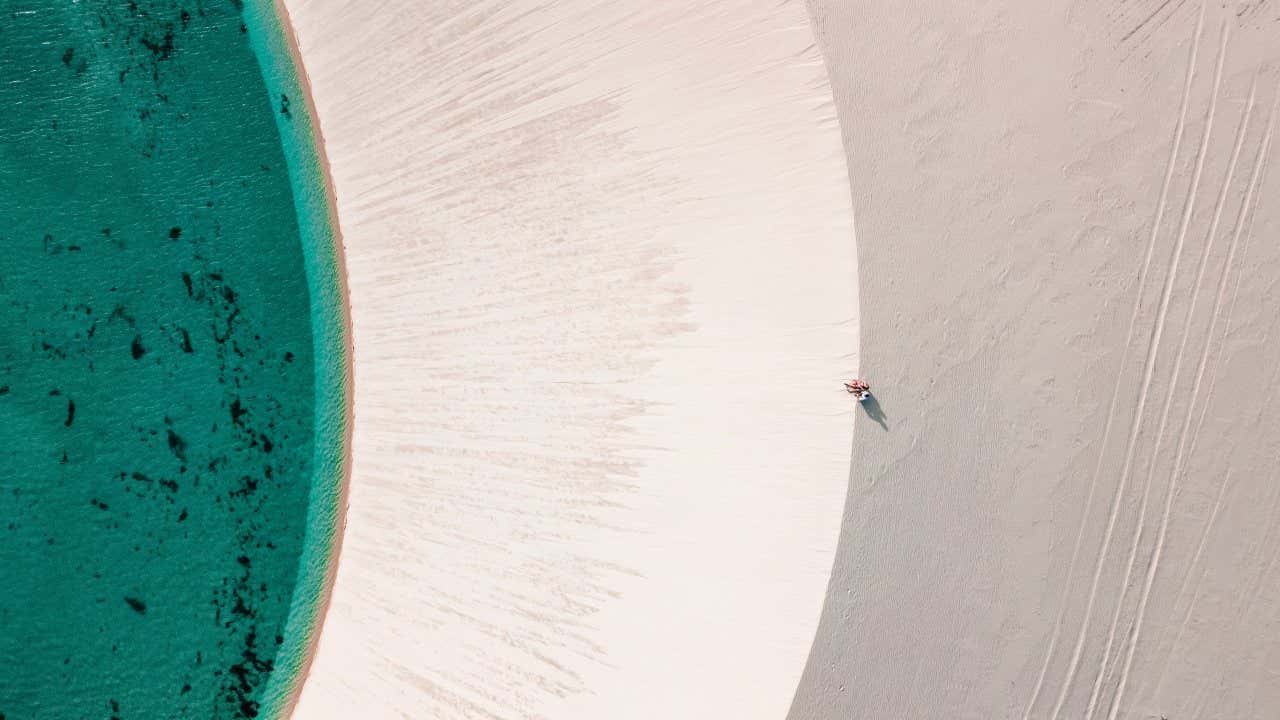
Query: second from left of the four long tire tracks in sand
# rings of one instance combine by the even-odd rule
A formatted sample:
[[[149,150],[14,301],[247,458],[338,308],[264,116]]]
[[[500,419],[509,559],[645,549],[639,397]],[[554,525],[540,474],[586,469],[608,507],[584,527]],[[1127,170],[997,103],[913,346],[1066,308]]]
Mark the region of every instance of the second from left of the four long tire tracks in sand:
[[[1202,13],[1203,8],[1204,6],[1201,5]],[[1116,492],[1111,498],[1111,511],[1107,515],[1107,528],[1102,536],[1102,546],[1098,548],[1098,555],[1093,564],[1093,582],[1089,585],[1089,600],[1084,606],[1084,619],[1080,623],[1080,632],[1076,635],[1075,648],[1071,652],[1071,662],[1068,667],[1066,676],[1062,680],[1062,687],[1059,689],[1057,702],[1053,705],[1053,720],[1057,720],[1057,716],[1062,710],[1062,705],[1066,702],[1066,697],[1071,689],[1071,684],[1075,682],[1075,676],[1079,673],[1084,639],[1088,634],[1089,623],[1093,619],[1093,606],[1097,602],[1098,584],[1102,580],[1102,568],[1106,564],[1107,552],[1111,550],[1111,539],[1115,536],[1116,519],[1120,514],[1120,502],[1129,486],[1129,475],[1133,473],[1134,455],[1138,450],[1138,436],[1142,433],[1147,400],[1151,396],[1151,382],[1156,373],[1156,357],[1160,352],[1160,341],[1165,334],[1165,322],[1169,319],[1169,302],[1172,299],[1174,283],[1178,279],[1178,266],[1181,263],[1183,249],[1187,242],[1187,229],[1196,209],[1196,197],[1199,192],[1201,178],[1204,176],[1204,160],[1208,156],[1208,145],[1213,135],[1213,119],[1217,113],[1217,99],[1221,94],[1222,86],[1222,59],[1226,55],[1228,27],[1229,26],[1224,20],[1222,31],[1220,32],[1221,37],[1219,40],[1217,68],[1213,74],[1213,86],[1211,88],[1208,109],[1204,113],[1204,132],[1201,136],[1201,145],[1196,154],[1196,169],[1192,173],[1192,183],[1187,191],[1187,201],[1183,205],[1178,238],[1174,241],[1174,251],[1169,259],[1169,269],[1165,273],[1165,283],[1160,291],[1156,324],[1152,328],[1151,340],[1147,342],[1147,357],[1143,361],[1142,387],[1138,391],[1138,406],[1134,410],[1133,423],[1129,427],[1129,439],[1125,445],[1125,456],[1124,465],[1120,470],[1120,482],[1117,483]]]

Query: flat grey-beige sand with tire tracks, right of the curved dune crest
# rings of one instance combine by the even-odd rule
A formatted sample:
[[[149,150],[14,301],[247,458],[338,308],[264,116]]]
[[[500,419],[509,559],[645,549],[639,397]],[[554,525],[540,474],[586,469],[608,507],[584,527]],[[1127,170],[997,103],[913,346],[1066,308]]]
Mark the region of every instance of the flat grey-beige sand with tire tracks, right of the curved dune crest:
[[[791,717],[1280,716],[1280,6],[812,10],[887,429]]]

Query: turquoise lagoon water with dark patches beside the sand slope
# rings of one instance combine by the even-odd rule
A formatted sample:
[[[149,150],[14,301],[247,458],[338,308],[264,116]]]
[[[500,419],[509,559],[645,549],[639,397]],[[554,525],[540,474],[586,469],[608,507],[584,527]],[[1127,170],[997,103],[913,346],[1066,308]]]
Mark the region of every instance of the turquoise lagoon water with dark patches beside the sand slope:
[[[270,6],[0,0],[0,719],[273,716],[344,350]]]

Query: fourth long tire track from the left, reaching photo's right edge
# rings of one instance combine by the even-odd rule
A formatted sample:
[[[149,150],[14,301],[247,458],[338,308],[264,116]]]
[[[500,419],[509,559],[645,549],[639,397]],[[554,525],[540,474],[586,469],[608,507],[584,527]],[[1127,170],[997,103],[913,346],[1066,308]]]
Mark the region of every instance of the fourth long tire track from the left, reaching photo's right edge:
[[[1253,163],[1253,173],[1252,177],[1249,178],[1249,186],[1244,196],[1244,202],[1240,204],[1240,217],[1236,220],[1235,233],[1231,236],[1231,247],[1228,250],[1226,254],[1225,268],[1230,268],[1233,261],[1235,260],[1235,252],[1236,249],[1239,247],[1240,234],[1245,224],[1244,223],[1245,213],[1248,213],[1249,206],[1253,204],[1253,193],[1258,188],[1258,181],[1261,179],[1262,165],[1266,161],[1266,156],[1271,150],[1271,137],[1275,129],[1275,115],[1277,104],[1280,104],[1280,87],[1277,87],[1276,97],[1271,102],[1271,110],[1267,114],[1267,132],[1262,140],[1262,147],[1258,149],[1257,160],[1254,160]],[[1211,316],[1210,320],[1210,331],[1204,340],[1204,348],[1201,352],[1199,363],[1198,366],[1196,368],[1196,383],[1192,386],[1192,397],[1196,397],[1199,393],[1199,386],[1204,378],[1204,366],[1208,361],[1208,347],[1210,347],[1208,341],[1210,338],[1213,337],[1213,327],[1217,323],[1217,314],[1221,310],[1222,301],[1226,299],[1226,278],[1228,274],[1224,270],[1217,284],[1217,297],[1213,301],[1213,315]],[[1134,621],[1132,637],[1129,639],[1129,650],[1125,653],[1124,670],[1120,673],[1120,685],[1116,688],[1115,700],[1111,701],[1111,712],[1107,714],[1107,720],[1115,720],[1116,715],[1120,712],[1120,705],[1121,701],[1124,700],[1125,688],[1128,687],[1129,683],[1129,671],[1133,667],[1133,657],[1138,650],[1138,639],[1142,637],[1142,625],[1147,615],[1147,601],[1151,600],[1151,585],[1156,580],[1156,573],[1160,569],[1160,559],[1164,555],[1165,550],[1165,537],[1169,532],[1169,518],[1172,510],[1174,492],[1176,491],[1176,479],[1183,469],[1183,460],[1185,457],[1184,451],[1187,450],[1187,438],[1188,438],[1188,430],[1190,429],[1192,424],[1192,416],[1193,416],[1192,409],[1188,409],[1187,418],[1183,421],[1183,428],[1178,437],[1178,451],[1174,454],[1174,471],[1170,474],[1169,478],[1169,491],[1165,496],[1165,512],[1160,520],[1160,532],[1156,537],[1156,547],[1152,550],[1151,564],[1147,566],[1147,578],[1143,582],[1142,587],[1142,600],[1138,602],[1138,616],[1137,620]]]

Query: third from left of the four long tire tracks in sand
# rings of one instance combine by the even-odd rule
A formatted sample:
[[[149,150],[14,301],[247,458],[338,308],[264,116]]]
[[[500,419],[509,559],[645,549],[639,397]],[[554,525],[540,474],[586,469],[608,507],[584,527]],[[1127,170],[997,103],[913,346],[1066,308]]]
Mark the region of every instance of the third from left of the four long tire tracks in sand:
[[[1230,26],[1224,26],[1228,28]],[[1225,41],[1224,41],[1225,47]],[[1224,53],[1225,55],[1225,53]],[[1221,58],[1220,58],[1221,60]],[[1219,65],[1221,72],[1221,64]],[[1111,665],[1111,650],[1115,646],[1116,628],[1120,625],[1120,615],[1124,614],[1124,601],[1125,596],[1129,594],[1129,580],[1133,578],[1133,569],[1138,561],[1138,546],[1142,544],[1142,534],[1147,528],[1147,505],[1151,500],[1151,487],[1156,479],[1156,465],[1160,459],[1160,450],[1165,442],[1165,429],[1169,427],[1169,414],[1174,407],[1174,397],[1178,396],[1178,378],[1183,372],[1183,359],[1187,356],[1187,342],[1192,336],[1192,324],[1196,319],[1196,306],[1199,304],[1199,291],[1201,286],[1204,283],[1204,272],[1208,269],[1208,258],[1213,251],[1213,241],[1217,237],[1219,225],[1222,222],[1222,210],[1226,208],[1226,197],[1231,190],[1231,181],[1235,178],[1235,168],[1240,161],[1240,151],[1244,149],[1244,137],[1248,133],[1249,118],[1253,115],[1253,104],[1257,99],[1258,83],[1257,77],[1253,79],[1253,86],[1249,88],[1249,100],[1244,108],[1244,113],[1240,115],[1240,127],[1235,131],[1235,142],[1231,146],[1231,159],[1226,167],[1226,177],[1222,179],[1222,186],[1217,192],[1217,200],[1213,202],[1213,219],[1210,222],[1208,234],[1204,238],[1204,245],[1201,249],[1199,261],[1196,266],[1196,283],[1192,286],[1192,297],[1187,304],[1187,313],[1183,318],[1183,332],[1178,341],[1178,352],[1174,355],[1174,369],[1169,375],[1169,387],[1165,391],[1165,404],[1160,411],[1160,425],[1156,430],[1156,439],[1151,450],[1151,460],[1147,462],[1147,478],[1142,487],[1142,501],[1138,505],[1138,521],[1134,523],[1133,541],[1129,543],[1129,557],[1125,561],[1124,580],[1120,582],[1120,598],[1116,601],[1115,612],[1111,614],[1111,624],[1107,628],[1107,643],[1106,648],[1102,651],[1102,664],[1098,669],[1097,676],[1093,680],[1093,689],[1089,693],[1088,710],[1084,714],[1087,720],[1093,720],[1093,712],[1097,708],[1098,696],[1102,692],[1103,679],[1107,675],[1107,669]],[[1229,264],[1222,265],[1222,273],[1225,274],[1230,268]],[[1217,307],[1215,306],[1215,313]],[[1206,347],[1210,340],[1213,337],[1213,324],[1210,323],[1208,334],[1204,338]],[[1192,396],[1192,404],[1194,405],[1196,396]],[[1188,407],[1188,413],[1192,413],[1193,407]]]

